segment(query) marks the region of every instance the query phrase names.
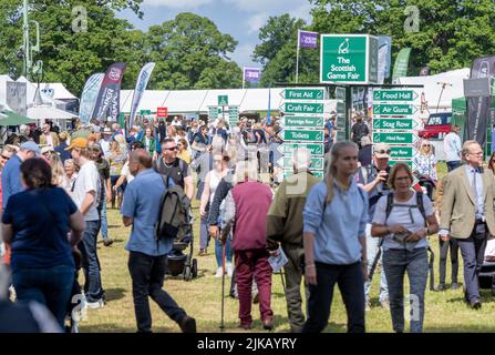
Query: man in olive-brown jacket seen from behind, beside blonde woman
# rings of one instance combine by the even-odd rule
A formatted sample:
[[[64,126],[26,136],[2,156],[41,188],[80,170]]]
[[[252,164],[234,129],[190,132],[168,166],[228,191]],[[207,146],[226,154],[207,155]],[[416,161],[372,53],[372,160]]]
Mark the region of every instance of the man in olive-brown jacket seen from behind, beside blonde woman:
[[[302,210],[311,187],[320,179],[310,172],[311,153],[305,148],[293,152],[293,175],[285,179],[275,194],[267,216],[267,244],[281,243],[289,262],[285,265],[286,298],[292,333],[300,333],[306,317],[300,293],[302,280]],[[274,247],[276,247],[274,245]]]

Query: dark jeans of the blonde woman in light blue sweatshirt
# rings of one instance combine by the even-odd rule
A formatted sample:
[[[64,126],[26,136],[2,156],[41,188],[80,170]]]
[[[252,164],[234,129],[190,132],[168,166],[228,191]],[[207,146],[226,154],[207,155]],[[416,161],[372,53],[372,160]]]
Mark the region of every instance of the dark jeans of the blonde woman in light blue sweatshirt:
[[[308,320],[302,333],[320,333],[324,329],[330,317],[336,283],[348,313],[348,333],[364,333],[364,280],[361,263],[314,264],[317,285],[309,285]]]

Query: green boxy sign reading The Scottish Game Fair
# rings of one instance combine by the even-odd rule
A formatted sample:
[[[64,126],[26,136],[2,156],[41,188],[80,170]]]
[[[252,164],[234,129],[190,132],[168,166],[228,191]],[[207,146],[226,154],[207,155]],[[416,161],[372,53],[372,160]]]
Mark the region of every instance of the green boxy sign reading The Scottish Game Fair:
[[[378,82],[378,38],[369,34],[321,34],[320,82]]]

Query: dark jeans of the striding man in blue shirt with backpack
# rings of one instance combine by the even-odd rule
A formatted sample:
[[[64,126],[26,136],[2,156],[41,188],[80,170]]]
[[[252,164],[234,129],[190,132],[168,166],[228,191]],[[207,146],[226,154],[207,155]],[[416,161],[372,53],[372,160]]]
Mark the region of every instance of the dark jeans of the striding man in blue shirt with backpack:
[[[152,314],[149,300],[162,308],[167,316],[179,323],[186,313],[163,287],[167,257],[149,256],[143,253],[131,252],[128,255],[128,272],[133,282],[134,312],[138,332],[152,331]]]

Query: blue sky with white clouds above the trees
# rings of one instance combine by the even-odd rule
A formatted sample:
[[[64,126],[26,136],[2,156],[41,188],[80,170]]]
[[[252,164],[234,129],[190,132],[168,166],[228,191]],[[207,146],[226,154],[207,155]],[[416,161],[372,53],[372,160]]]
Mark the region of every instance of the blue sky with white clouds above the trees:
[[[207,17],[221,33],[230,34],[238,41],[230,58],[240,68],[260,67],[250,57],[259,43],[259,28],[266,24],[270,16],[289,13],[307,23],[311,22],[309,0],[144,0],[141,9],[144,12],[142,20],[131,10],[122,11],[117,17],[127,19],[143,31],[149,26],[173,20],[181,12]]]

